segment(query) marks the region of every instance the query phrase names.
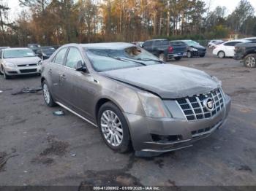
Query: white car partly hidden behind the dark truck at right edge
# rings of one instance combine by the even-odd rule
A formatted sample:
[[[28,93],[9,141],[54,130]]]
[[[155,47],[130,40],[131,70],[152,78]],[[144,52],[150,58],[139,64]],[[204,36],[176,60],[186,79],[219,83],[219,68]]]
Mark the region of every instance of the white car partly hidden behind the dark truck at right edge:
[[[246,42],[250,41],[243,39],[227,41],[216,45],[212,53],[217,55],[219,58],[234,57],[236,44]]]

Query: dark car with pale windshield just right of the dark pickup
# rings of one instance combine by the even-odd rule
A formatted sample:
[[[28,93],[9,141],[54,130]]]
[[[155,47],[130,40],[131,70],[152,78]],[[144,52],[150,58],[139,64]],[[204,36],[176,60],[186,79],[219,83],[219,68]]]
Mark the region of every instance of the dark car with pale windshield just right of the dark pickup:
[[[187,58],[192,58],[195,56],[204,57],[206,55],[206,47],[201,46],[199,43],[192,40],[182,40],[189,46],[187,50]]]

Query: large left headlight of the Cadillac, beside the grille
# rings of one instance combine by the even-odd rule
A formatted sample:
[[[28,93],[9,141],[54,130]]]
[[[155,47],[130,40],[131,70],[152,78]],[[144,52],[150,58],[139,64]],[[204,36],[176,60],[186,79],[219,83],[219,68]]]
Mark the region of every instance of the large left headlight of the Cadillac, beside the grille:
[[[171,117],[170,112],[157,95],[147,92],[139,92],[140,101],[147,117],[162,118]]]

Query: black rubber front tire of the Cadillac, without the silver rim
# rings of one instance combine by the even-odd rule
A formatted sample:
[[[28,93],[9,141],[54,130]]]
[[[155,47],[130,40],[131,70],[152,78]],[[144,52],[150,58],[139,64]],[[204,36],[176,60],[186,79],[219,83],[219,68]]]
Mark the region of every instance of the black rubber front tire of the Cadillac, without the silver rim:
[[[106,111],[111,111],[114,114],[116,114],[119,122],[121,122],[123,139],[121,140],[121,143],[118,146],[113,146],[112,144],[110,144],[103,134],[101,119],[103,117],[102,114]],[[121,110],[118,109],[118,107],[115,104],[113,104],[112,102],[107,102],[103,104],[99,108],[99,112],[97,115],[97,122],[98,122],[99,132],[102,136],[102,139],[105,141],[105,144],[107,144],[108,147],[110,147],[110,149],[113,149],[114,151],[120,152],[120,153],[128,152],[131,149],[132,144],[131,144],[131,139],[129,134],[129,127],[127,125],[127,120],[125,119],[124,114],[122,114]]]

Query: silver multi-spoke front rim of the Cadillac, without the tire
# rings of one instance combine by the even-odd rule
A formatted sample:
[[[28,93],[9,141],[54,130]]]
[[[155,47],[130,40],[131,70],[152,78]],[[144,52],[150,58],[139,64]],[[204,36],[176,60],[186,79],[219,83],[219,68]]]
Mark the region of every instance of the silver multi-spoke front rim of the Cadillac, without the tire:
[[[105,140],[113,147],[118,147],[123,141],[123,128],[117,114],[111,110],[103,112],[100,126]]]

